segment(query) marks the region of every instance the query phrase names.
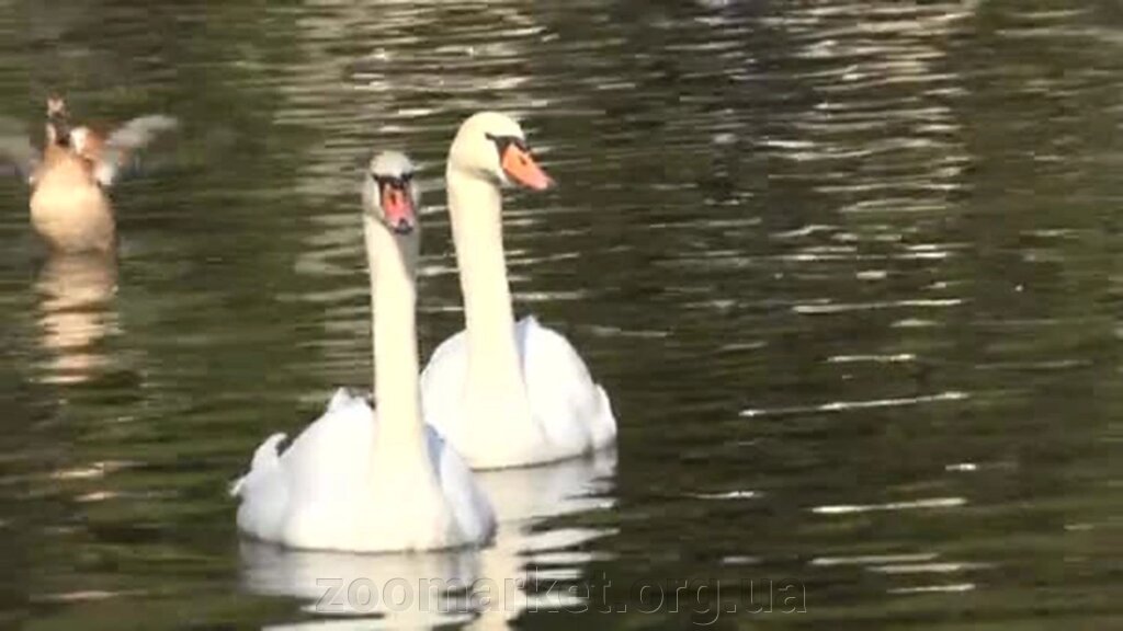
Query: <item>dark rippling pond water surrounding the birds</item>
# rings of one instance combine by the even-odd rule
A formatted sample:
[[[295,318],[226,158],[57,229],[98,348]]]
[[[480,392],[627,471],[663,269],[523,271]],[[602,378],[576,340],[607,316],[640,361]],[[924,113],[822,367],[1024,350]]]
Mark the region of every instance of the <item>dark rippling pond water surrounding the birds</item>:
[[[1117,624],[1119,3],[22,1],[0,35],[28,129],[51,90],[184,122],[116,267],[44,259],[0,188],[0,625]],[[619,454],[489,476],[482,552],[240,543],[253,448],[369,383],[375,147],[429,180],[422,351],[460,326],[440,175],[484,108],[562,182],[508,198],[517,310]]]

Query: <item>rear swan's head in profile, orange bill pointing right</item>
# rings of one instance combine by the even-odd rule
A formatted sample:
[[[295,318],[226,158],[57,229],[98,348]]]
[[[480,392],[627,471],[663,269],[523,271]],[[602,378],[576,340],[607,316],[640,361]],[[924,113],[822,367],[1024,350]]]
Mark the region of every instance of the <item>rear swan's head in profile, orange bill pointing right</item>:
[[[554,185],[531,155],[522,127],[499,112],[480,112],[460,125],[448,152],[448,168],[500,185],[517,183],[536,191]]]

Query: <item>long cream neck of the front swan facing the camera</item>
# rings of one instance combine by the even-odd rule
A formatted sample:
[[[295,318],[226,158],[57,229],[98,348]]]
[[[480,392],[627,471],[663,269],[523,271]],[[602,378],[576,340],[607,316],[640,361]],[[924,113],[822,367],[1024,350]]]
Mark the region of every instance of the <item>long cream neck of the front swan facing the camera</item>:
[[[363,227],[371,267],[376,440],[384,448],[401,448],[403,456],[410,456],[424,439],[413,283],[417,238],[395,236],[365,214]]]

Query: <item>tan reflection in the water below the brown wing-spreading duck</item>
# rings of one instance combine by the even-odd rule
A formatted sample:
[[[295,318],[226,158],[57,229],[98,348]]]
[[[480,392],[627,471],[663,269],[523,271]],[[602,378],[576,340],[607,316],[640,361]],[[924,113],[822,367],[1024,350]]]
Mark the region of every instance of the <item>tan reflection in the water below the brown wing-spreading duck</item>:
[[[98,348],[117,332],[113,303],[117,259],[103,255],[53,256],[35,283],[39,296],[39,344],[47,351],[43,381],[82,383],[108,364]]]

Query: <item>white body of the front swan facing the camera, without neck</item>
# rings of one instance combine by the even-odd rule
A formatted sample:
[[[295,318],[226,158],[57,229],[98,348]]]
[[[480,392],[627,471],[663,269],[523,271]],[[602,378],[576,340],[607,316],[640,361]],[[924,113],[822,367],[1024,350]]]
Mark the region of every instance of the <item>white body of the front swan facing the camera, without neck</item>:
[[[378,419],[338,391],[328,410],[284,452],[267,438],[235,483],[238,528],[292,548],[383,552],[486,541],[491,505],[447,441],[426,428],[423,463],[378,440]]]

